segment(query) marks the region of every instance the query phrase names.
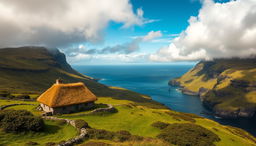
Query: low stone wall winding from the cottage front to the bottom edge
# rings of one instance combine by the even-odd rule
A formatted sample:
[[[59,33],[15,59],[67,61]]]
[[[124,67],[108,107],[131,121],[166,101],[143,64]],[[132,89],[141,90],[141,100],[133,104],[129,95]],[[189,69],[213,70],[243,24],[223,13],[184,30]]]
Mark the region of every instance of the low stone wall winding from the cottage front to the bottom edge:
[[[43,118],[47,119],[47,120],[55,120],[55,121],[65,120],[67,124],[70,124],[71,126],[76,128],[75,120],[61,119],[61,118],[50,117],[50,116],[43,116]],[[80,132],[80,134],[78,136],[71,138],[71,139],[65,141],[64,143],[58,144],[58,146],[72,146],[74,144],[82,142],[87,136],[87,131],[85,128],[81,128],[78,130]]]

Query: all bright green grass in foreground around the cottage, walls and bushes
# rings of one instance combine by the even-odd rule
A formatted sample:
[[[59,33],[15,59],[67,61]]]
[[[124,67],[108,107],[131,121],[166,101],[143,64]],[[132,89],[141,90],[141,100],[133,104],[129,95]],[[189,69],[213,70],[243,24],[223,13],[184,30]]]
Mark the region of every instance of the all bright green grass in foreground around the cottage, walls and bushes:
[[[13,106],[6,109],[26,109],[34,114],[39,115],[40,112],[35,110],[37,102],[24,102],[24,101],[6,101],[0,100],[0,106],[12,103],[34,103],[35,105],[19,105]],[[83,119],[89,123],[93,128],[105,129],[109,131],[119,131],[127,130],[133,135],[139,135],[143,137],[152,137],[155,138],[161,131],[155,127],[152,127],[151,124],[156,121],[162,121],[166,123],[195,123],[208,130],[217,134],[221,141],[217,142],[216,145],[232,145],[232,146],[241,146],[241,145],[255,145],[251,140],[254,139],[251,135],[246,132],[234,133],[231,132],[234,130],[231,127],[226,127],[218,124],[212,120],[205,118],[197,118],[197,116],[191,116],[184,113],[179,113],[171,111],[166,108],[150,108],[148,106],[136,105],[135,102],[131,100],[121,100],[113,99],[112,97],[99,97],[97,104],[112,104],[118,110],[117,113],[104,113],[104,114],[88,114],[88,112],[79,112],[73,114],[65,114],[58,117],[67,118],[67,119]],[[187,115],[187,116],[184,116]],[[35,133],[26,133],[22,135],[15,134],[5,134],[0,133],[0,144],[10,144],[15,145],[17,143],[26,143],[28,141],[37,141],[40,144],[46,142],[59,142],[61,140],[67,140],[72,136],[76,135],[76,130],[70,126],[60,126],[56,125],[55,122],[47,121],[48,125],[47,132],[35,134]],[[60,126],[57,128],[56,126]],[[55,127],[55,128],[54,128]],[[52,130],[51,130],[52,129]],[[55,130],[54,130],[55,129]],[[56,130],[58,129],[58,130]],[[63,134],[64,133],[64,134]],[[92,140],[90,140],[92,141]],[[85,141],[84,144],[90,142]],[[93,140],[98,142],[99,140]],[[100,142],[100,141],[99,141]],[[110,144],[120,144],[118,142],[105,141],[105,143]],[[126,142],[125,144],[163,144],[161,140],[144,140],[143,142]]]

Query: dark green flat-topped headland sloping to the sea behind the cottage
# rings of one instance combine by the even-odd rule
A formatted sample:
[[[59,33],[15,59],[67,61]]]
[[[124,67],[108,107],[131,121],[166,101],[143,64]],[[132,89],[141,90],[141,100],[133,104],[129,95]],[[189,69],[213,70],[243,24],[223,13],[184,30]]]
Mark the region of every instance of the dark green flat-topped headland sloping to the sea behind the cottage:
[[[57,78],[84,82],[91,90],[107,88],[72,69],[58,49],[20,47],[0,49],[0,91],[40,93]]]

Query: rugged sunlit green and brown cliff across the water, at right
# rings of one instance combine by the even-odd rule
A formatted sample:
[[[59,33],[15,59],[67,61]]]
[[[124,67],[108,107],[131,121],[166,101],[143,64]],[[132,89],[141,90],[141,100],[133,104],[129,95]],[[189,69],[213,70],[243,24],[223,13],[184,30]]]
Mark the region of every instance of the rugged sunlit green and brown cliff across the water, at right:
[[[201,61],[169,84],[200,96],[203,105],[220,117],[255,118],[256,58]]]

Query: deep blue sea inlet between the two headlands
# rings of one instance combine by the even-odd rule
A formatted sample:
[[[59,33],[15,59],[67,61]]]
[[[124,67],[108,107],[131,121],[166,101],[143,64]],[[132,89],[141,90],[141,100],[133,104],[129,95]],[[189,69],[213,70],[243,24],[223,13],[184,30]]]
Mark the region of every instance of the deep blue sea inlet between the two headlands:
[[[245,129],[256,135],[255,121],[224,120],[206,114],[210,111],[202,106],[198,97],[184,95],[179,92],[178,87],[168,86],[170,79],[180,77],[193,65],[88,65],[73,67],[82,74],[100,79],[99,82],[102,84],[123,87],[146,94],[172,110],[194,113],[225,125]]]

